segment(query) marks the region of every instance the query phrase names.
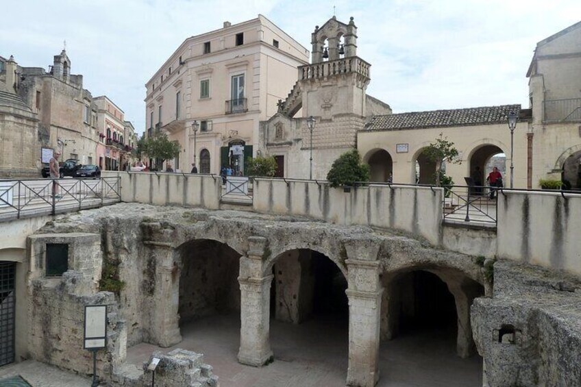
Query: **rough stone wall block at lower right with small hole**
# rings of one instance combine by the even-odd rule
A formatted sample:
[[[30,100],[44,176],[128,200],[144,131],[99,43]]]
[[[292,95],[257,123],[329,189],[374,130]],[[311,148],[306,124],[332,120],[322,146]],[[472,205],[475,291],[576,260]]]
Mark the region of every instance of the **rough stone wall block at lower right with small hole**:
[[[486,386],[581,386],[581,282],[528,264],[494,265],[493,298],[471,308]]]

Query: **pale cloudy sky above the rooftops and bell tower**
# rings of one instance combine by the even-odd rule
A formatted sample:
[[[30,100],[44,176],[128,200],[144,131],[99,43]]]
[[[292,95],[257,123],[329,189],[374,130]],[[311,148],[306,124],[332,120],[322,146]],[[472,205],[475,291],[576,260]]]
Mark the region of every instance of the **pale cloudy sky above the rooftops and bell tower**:
[[[338,20],[355,18],[357,53],[371,63],[367,93],[393,112],[528,108],[536,42],[581,20],[580,0],[3,1],[0,55],[48,68],[66,40],[71,72],[141,133],[144,84],[188,36],[263,14],[310,51],[334,6]]]

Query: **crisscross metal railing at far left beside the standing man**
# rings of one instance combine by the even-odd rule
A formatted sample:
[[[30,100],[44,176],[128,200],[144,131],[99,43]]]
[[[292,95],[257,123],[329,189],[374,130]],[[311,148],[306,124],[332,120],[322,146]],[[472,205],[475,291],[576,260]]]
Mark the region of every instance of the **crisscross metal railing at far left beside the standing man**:
[[[97,208],[119,201],[121,177],[0,180],[0,222]]]

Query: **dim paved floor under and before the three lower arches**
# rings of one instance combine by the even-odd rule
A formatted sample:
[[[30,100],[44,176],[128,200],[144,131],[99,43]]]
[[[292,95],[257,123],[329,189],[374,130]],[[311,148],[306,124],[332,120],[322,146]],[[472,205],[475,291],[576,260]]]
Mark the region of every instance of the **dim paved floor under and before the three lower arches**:
[[[182,329],[179,347],[204,354],[221,387],[337,387],[347,377],[347,324],[334,319],[300,325],[271,321],[275,361],[262,368],[236,360],[240,332],[238,315],[206,317]],[[140,344],[128,350],[128,360],[140,364],[159,348]],[[482,359],[460,359],[454,335],[420,332],[382,343],[379,387],[482,386]]]

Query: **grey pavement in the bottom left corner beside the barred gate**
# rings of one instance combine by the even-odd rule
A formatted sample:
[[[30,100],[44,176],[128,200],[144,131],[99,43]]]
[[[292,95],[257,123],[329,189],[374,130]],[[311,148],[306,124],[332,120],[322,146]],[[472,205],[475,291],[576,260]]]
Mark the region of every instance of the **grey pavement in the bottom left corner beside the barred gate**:
[[[82,387],[90,386],[92,382],[88,377],[32,360],[0,367],[0,380],[16,375],[21,375],[33,387]]]

